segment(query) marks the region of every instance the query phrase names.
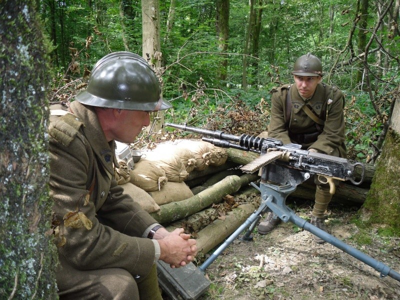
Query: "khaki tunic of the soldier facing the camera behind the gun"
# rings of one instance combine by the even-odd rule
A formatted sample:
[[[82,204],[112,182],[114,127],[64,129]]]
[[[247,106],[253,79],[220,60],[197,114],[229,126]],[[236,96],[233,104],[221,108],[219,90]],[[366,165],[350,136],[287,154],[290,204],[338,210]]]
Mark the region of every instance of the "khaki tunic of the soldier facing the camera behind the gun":
[[[288,91],[292,106],[290,117],[286,117]],[[344,97],[341,90],[324,83],[318,83],[312,97],[306,100],[300,96],[295,84],[285,84],[272,89],[268,137],[280,139],[285,144],[301,144],[303,149],[313,148],[321,153],[345,157],[343,104]],[[316,125],[316,122],[305,113],[302,109],[304,105],[308,105],[324,120],[323,126]],[[312,136],[316,132],[319,132],[317,137],[315,136],[316,140],[301,138]]]

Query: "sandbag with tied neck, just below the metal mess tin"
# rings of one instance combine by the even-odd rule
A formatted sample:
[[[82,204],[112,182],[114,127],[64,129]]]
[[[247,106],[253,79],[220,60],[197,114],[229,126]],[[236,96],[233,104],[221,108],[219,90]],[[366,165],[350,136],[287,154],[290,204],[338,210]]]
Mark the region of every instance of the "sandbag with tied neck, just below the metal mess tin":
[[[140,159],[129,171],[130,181],[145,191],[161,189],[168,181],[165,171],[154,161]]]

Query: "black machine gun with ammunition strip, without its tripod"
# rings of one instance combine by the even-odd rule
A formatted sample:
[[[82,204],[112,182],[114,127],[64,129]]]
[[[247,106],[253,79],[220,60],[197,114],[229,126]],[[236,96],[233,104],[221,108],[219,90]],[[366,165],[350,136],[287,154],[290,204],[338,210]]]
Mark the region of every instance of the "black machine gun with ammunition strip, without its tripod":
[[[243,166],[241,169],[244,172],[254,172],[269,162],[279,159],[275,163],[282,166],[295,168],[304,171],[304,175],[310,174],[319,175],[318,178],[321,183],[329,183],[331,191],[334,193],[334,185],[331,183],[333,178],[338,180],[349,180],[354,185],[362,183],[365,175],[365,169],[362,163],[356,162],[351,164],[347,159],[335,157],[323,153],[310,152],[302,150],[298,144],[283,144],[281,140],[275,138],[256,137],[249,134],[241,134],[240,136],[224,133],[223,131],[212,131],[190,127],[186,125],[178,125],[173,123],[165,123],[166,126],[181,129],[184,131],[191,131],[205,135],[202,140],[210,142],[218,147],[231,147],[241,149],[244,151],[252,151],[260,153],[261,156],[249,164]],[[281,154],[273,154],[272,151],[281,152]],[[264,156],[264,154],[269,154]],[[362,168],[361,179],[357,182],[354,180],[354,168],[359,165]],[[286,182],[278,182],[285,184]],[[333,190],[332,190],[333,189]]]

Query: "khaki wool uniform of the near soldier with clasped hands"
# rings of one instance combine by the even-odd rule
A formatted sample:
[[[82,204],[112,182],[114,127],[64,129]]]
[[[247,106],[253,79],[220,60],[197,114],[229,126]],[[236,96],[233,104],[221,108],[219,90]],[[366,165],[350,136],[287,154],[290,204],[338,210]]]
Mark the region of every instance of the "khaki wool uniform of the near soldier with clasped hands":
[[[140,299],[160,299],[155,241],[143,238],[157,222],[117,185],[115,144],[94,109],[78,101],[69,109],[49,125],[60,298],[138,299],[139,291]],[[155,287],[142,291],[146,280]]]

